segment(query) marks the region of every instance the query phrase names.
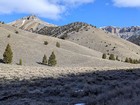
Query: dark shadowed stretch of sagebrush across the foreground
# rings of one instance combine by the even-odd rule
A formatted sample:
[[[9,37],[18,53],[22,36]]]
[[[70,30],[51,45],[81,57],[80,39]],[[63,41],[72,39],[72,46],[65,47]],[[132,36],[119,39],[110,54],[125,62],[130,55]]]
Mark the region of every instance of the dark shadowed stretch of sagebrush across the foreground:
[[[30,80],[0,79],[4,105],[138,105],[140,70],[96,71]]]

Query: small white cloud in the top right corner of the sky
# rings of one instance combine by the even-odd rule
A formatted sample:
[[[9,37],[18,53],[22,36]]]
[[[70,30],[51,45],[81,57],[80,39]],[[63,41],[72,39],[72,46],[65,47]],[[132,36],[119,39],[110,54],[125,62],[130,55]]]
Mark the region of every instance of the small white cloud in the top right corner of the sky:
[[[140,7],[140,0],[113,0],[117,7]]]

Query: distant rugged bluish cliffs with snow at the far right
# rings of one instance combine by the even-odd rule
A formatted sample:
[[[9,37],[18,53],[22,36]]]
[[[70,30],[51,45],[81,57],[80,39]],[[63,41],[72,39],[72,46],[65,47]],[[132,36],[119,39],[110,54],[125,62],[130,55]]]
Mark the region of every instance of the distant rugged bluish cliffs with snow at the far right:
[[[101,28],[102,30],[105,30],[107,32],[110,32],[112,34],[115,34],[123,39],[129,39],[131,36],[135,35],[137,31],[140,30],[139,26],[131,26],[131,27],[113,27],[113,26],[107,26]]]

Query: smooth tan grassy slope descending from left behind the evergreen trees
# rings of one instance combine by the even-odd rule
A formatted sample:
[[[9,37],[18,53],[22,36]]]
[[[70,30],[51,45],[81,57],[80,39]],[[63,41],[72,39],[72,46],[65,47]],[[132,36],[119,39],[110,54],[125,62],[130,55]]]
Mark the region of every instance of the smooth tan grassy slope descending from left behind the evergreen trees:
[[[101,52],[70,41],[25,32],[2,24],[0,32],[0,58],[3,58],[3,52],[9,43],[13,50],[13,64],[22,59],[23,65],[39,65],[44,54],[49,58],[54,51],[58,62],[57,66],[124,65],[117,61],[102,60]],[[10,38],[8,38],[9,35]],[[44,41],[47,41],[48,45],[44,45]],[[57,42],[60,43],[60,48],[56,47]]]

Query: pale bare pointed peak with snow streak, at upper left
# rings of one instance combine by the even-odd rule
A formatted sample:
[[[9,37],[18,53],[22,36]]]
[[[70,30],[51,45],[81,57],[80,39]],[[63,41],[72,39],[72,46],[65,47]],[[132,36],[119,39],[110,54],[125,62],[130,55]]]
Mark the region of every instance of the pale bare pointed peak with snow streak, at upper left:
[[[30,32],[36,32],[40,30],[41,28],[43,28],[44,26],[46,27],[56,26],[56,25],[40,20],[35,15],[23,17],[19,20],[9,23],[9,25],[22,29],[22,30],[30,31]]]

